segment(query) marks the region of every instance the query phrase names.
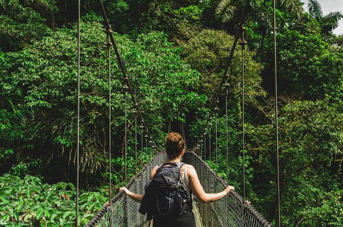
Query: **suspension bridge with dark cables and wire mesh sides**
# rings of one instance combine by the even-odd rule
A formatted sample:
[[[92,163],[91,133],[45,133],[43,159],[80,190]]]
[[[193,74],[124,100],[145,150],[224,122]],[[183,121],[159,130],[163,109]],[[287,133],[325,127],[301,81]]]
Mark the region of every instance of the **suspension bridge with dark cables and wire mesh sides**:
[[[122,89],[124,91],[124,118],[125,118],[125,129],[124,129],[124,178],[127,182],[127,111],[128,111],[128,97],[131,96],[133,106],[134,106],[134,113],[135,113],[135,159],[137,160],[137,121],[140,119],[140,126],[139,128],[142,131],[142,144],[143,144],[143,134],[144,138],[146,139],[146,147],[149,145],[151,149],[155,151],[155,156],[153,159],[148,162],[143,168],[140,173],[137,173],[135,177],[133,177],[129,183],[126,185],[130,191],[133,191],[138,194],[144,194],[144,185],[148,182],[148,176],[153,169],[153,166],[157,164],[161,164],[166,160],[166,153],[157,149],[157,146],[151,136],[151,133],[146,126],[146,122],[144,121],[142,111],[140,111],[139,106],[137,105],[137,99],[135,98],[135,94],[133,92],[133,88],[129,79],[129,76],[126,74],[126,69],[124,67],[124,63],[120,56],[120,52],[118,51],[118,47],[115,43],[115,39],[113,38],[111,25],[109,24],[109,20],[107,18],[106,10],[102,4],[102,1],[99,0],[100,6],[102,8],[102,16],[104,18],[104,26],[106,28],[107,33],[107,51],[109,56],[109,122],[111,122],[111,48],[115,52],[115,56],[118,60],[118,66],[122,71],[123,75],[123,86]],[[248,6],[248,4],[246,4]],[[221,83],[218,87],[217,92],[212,97],[212,105],[211,111],[206,120],[206,124],[203,125],[203,131],[200,133],[200,137],[197,141],[197,144],[193,149],[188,149],[188,152],[184,155],[183,162],[187,164],[192,164],[195,167],[201,185],[203,186],[204,190],[208,193],[222,191],[225,186],[228,184],[221,178],[215,171],[213,171],[210,166],[206,163],[206,155],[212,153],[211,149],[211,130],[212,130],[212,122],[215,120],[214,130],[215,130],[215,160],[217,162],[217,115],[219,111],[219,100],[225,100],[225,117],[226,117],[226,140],[228,141],[228,69],[230,68],[234,50],[236,45],[241,45],[241,75],[242,75],[242,131],[243,131],[243,148],[242,148],[242,176],[243,176],[243,196],[236,193],[236,191],[230,191],[229,195],[224,197],[223,199],[219,199],[217,202],[213,202],[210,204],[202,204],[201,202],[194,202],[194,212],[197,219],[197,224],[199,226],[271,226],[269,222],[260,214],[258,211],[247,202],[245,199],[245,141],[244,141],[244,50],[246,41],[244,39],[244,21],[245,17],[247,16],[247,6],[245,6],[242,14],[241,19],[237,25],[236,35],[234,36],[234,43],[232,45],[232,49],[230,51],[228,57],[228,65],[225,68],[225,72],[221,78]],[[277,78],[277,70],[276,70],[276,31],[275,31],[275,1],[274,1],[274,66],[275,66],[275,81]],[[240,41],[239,41],[240,40]],[[276,155],[277,155],[277,171],[278,171],[278,221],[277,224],[280,226],[280,190],[279,190],[279,167],[278,167],[278,125],[277,125],[277,81],[275,83],[276,89]],[[128,95],[129,94],[129,95]],[[213,119],[214,118],[214,119]],[[77,147],[77,199],[76,199],[76,223],[78,223],[78,195],[79,195],[79,122],[80,122],[80,0],[78,1],[78,147]],[[111,131],[111,123],[109,123],[109,130]],[[182,131],[182,130],[181,130]],[[110,133],[111,135],[111,133]],[[208,141],[208,146],[206,146],[206,141]],[[148,142],[148,143],[147,143]],[[111,144],[111,136],[109,138],[109,143]],[[228,144],[228,142],[226,142]],[[208,151],[206,151],[208,149]],[[226,147],[226,171],[228,176],[228,145]],[[109,146],[109,157],[111,157],[111,146]],[[207,157],[208,158],[208,157]],[[137,163],[136,163],[137,169]],[[111,158],[109,159],[109,175],[111,176]],[[87,226],[148,226],[148,223],[145,221],[144,215],[141,215],[137,212],[139,208],[139,204],[134,202],[132,199],[129,199],[124,195],[123,191],[120,191],[115,197],[111,197],[111,177],[109,177],[109,204],[110,206],[104,206],[97,215],[95,215]],[[228,181],[228,179],[226,179]]]

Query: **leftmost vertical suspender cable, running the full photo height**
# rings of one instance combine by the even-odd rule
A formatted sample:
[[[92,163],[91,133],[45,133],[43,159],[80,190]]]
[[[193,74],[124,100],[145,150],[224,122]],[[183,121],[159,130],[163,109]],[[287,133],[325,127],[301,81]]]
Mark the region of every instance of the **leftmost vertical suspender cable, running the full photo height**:
[[[76,226],[78,226],[78,197],[79,197],[79,169],[80,169],[80,19],[81,1],[78,0],[78,126],[76,145]]]

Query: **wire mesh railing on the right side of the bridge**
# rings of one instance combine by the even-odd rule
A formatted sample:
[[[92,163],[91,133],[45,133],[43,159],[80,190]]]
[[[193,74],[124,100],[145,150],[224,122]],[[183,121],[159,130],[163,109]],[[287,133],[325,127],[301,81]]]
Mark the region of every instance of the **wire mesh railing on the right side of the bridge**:
[[[195,167],[206,193],[218,193],[228,186],[197,154],[185,153],[183,162]],[[236,191],[230,191],[228,196],[216,202],[198,202],[197,206],[203,226],[271,226],[252,205],[244,202],[243,197]]]

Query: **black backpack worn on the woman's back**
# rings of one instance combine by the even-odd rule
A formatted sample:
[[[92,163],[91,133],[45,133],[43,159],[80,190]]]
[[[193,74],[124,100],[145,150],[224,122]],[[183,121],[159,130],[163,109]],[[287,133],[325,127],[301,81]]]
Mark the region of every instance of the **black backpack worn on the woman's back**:
[[[146,220],[153,217],[175,219],[183,213],[186,204],[191,206],[190,192],[180,181],[180,169],[183,165],[182,162],[160,165],[153,179],[146,184],[138,210],[143,215],[147,214]]]

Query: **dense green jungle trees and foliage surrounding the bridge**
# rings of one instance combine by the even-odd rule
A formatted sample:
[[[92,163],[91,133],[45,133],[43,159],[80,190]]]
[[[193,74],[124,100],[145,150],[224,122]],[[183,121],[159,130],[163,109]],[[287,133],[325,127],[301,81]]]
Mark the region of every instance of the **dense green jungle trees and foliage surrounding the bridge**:
[[[228,62],[243,5],[246,197],[276,224],[274,44],[270,0],[104,0],[115,40],[157,147],[168,131],[195,146]],[[124,186],[124,94],[98,1],[81,1],[80,225]],[[0,226],[73,226],[76,202],[77,1],[0,0]],[[282,226],[342,226],[342,12],[276,1]],[[219,100],[221,177],[242,192],[241,46]],[[128,97],[131,100],[131,96]],[[129,179],[135,112],[128,101]],[[140,121],[138,122],[140,125]],[[138,131],[141,138],[142,131]],[[144,133],[144,132],[143,132]],[[212,131],[213,133],[213,131]],[[212,142],[214,142],[212,140]],[[153,152],[138,146],[137,164]],[[214,144],[212,144],[214,147]]]

